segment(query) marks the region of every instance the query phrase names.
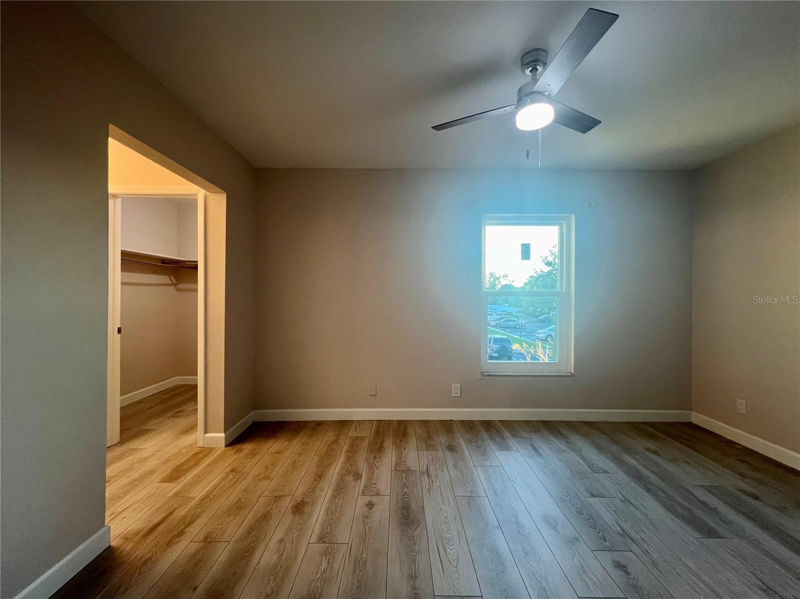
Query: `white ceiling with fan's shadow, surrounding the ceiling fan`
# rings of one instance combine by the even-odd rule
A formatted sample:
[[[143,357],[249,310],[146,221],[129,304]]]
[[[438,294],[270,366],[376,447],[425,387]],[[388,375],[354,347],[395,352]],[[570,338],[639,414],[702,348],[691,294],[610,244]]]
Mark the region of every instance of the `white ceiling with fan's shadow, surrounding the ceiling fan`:
[[[525,168],[519,57],[619,19],[556,95],[546,169],[690,169],[800,120],[800,2],[86,2],[254,166]],[[535,156],[531,134],[531,156]]]

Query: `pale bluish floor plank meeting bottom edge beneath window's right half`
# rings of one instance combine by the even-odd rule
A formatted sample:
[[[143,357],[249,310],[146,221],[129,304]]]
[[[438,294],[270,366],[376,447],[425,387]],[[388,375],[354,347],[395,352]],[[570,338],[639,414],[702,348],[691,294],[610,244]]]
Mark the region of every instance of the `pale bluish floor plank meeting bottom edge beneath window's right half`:
[[[478,468],[486,496],[534,599],[578,597],[502,466]]]

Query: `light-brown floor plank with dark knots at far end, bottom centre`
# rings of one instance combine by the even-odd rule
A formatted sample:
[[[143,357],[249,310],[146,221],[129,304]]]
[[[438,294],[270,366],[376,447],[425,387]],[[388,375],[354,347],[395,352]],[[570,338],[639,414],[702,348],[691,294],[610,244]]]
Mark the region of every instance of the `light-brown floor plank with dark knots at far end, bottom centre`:
[[[419,465],[434,592],[479,595],[481,588],[458,515],[444,454],[419,452]]]

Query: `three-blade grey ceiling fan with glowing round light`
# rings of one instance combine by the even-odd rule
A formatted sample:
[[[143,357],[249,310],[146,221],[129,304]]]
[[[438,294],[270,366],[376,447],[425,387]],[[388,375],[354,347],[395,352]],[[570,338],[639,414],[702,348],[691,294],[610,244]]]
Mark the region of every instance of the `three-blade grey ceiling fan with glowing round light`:
[[[528,50],[522,54],[520,59],[522,72],[530,75],[530,82],[517,90],[516,104],[443,122],[432,129],[442,131],[482,118],[516,112],[517,127],[523,131],[542,129],[550,122],[556,122],[558,125],[578,131],[578,133],[588,133],[593,130],[600,124],[598,119],[556,102],[553,96],[570,78],[570,75],[574,73],[592,48],[597,45],[600,38],[606,34],[606,31],[614,25],[618,17],[618,14],[607,13],[605,10],[594,8],[586,10],[586,14],[578,22],[578,26],[572,31],[570,37],[566,38],[566,42],[561,46],[561,50],[558,50],[550,64],[547,63],[547,50],[542,48],[534,48],[534,50]]]

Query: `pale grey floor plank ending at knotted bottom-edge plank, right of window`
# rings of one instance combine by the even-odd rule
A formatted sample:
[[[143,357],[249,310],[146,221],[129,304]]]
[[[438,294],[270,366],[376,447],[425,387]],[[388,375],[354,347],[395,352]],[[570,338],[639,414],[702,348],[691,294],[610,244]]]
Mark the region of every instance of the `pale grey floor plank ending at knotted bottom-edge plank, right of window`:
[[[570,482],[554,461],[539,448],[530,437],[515,437],[514,445],[528,462],[545,489],[553,497],[570,523],[581,535],[589,549],[618,550],[630,549],[625,541],[614,532],[602,516],[586,501],[578,489]]]

